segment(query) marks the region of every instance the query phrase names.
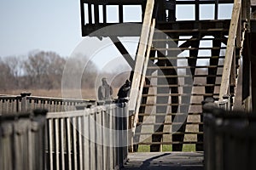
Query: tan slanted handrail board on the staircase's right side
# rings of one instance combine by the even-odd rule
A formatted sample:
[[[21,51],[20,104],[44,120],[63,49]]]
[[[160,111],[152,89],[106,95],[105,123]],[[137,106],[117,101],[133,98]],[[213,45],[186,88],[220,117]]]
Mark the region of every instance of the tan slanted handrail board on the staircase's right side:
[[[235,48],[235,39],[236,39],[236,31],[237,24],[240,17],[241,12],[241,0],[235,0],[234,7],[232,10],[232,17],[230,22],[230,31],[229,31],[229,39],[224,59],[224,71],[223,77],[221,80],[221,87],[219,91],[219,100],[223,101],[224,94],[228,94],[228,89],[230,86],[230,71],[233,59],[233,53]]]

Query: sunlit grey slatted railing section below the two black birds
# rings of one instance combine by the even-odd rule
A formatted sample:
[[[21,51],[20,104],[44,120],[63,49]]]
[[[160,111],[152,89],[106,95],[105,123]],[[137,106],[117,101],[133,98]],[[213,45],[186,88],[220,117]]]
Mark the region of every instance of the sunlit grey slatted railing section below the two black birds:
[[[47,169],[118,169],[128,154],[124,105],[100,105],[47,116]]]

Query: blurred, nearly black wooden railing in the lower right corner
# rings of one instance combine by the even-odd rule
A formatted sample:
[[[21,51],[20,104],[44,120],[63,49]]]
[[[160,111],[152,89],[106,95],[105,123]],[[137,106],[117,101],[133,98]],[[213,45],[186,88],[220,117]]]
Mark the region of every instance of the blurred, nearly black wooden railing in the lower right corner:
[[[255,114],[225,111],[213,103],[203,105],[203,111],[204,169],[255,169]]]

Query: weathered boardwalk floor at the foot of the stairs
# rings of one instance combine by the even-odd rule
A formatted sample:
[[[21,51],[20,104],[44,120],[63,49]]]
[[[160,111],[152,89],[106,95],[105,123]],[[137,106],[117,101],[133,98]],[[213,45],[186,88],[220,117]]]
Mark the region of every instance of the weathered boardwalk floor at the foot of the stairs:
[[[202,170],[202,152],[147,152],[129,153],[121,170]]]

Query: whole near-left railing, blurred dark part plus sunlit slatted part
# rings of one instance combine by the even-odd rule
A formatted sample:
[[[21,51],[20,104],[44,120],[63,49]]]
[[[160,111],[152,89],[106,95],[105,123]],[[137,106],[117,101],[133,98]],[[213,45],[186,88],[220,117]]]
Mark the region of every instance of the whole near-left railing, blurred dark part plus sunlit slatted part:
[[[0,116],[1,169],[119,169],[126,161],[125,104],[43,112]]]

